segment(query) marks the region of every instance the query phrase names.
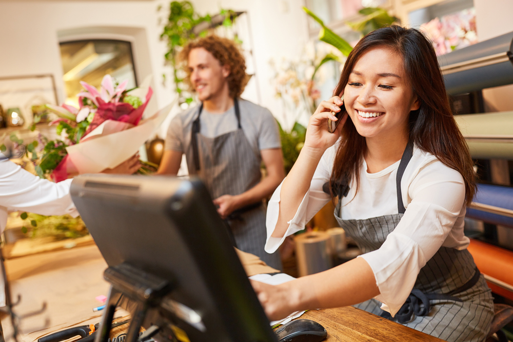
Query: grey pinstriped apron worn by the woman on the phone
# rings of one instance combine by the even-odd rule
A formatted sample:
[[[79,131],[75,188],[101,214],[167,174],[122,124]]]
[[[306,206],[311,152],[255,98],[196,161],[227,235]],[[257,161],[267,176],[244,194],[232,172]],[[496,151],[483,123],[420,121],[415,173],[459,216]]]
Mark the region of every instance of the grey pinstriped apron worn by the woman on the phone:
[[[368,219],[344,220],[341,201],[335,209],[340,227],[344,228],[363,253],[377,250],[405,212],[401,196],[401,178],[413,152],[408,144],[397,171],[398,214]],[[341,189],[347,194],[347,187]],[[338,191],[340,193],[340,190]],[[447,341],[484,341],[494,318],[491,291],[477,270],[472,255],[465,250],[441,247],[427,261],[406,303],[394,318],[381,310],[381,302],[369,299],[355,307],[441,338]]]

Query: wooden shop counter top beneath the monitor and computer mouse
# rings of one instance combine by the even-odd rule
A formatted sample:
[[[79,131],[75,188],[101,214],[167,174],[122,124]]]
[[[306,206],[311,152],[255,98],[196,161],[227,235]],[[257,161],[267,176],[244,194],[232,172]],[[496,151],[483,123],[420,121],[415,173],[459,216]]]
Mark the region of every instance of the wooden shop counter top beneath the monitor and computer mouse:
[[[70,326],[97,323],[103,312],[93,312],[92,308],[101,305],[94,298],[108,292],[109,285],[103,279],[106,268],[95,245],[7,260],[13,297],[22,295],[15,312],[24,315],[47,303],[43,313],[22,318],[22,341],[33,342]],[[116,312],[116,316],[123,314]],[[311,310],[301,318],[324,326],[328,331],[326,341],[441,341],[353,307]],[[2,325],[6,339],[12,341],[8,338],[12,327],[7,316],[2,317]]]

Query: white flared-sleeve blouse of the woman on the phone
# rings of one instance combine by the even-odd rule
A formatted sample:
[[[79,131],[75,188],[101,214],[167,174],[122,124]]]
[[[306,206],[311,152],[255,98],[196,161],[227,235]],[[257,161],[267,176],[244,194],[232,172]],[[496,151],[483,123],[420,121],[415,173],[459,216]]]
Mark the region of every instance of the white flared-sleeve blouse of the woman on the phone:
[[[322,186],[329,180],[335,152],[333,146],[324,153],[310,189],[282,238],[271,237],[278,220],[281,185],[274,191],[267,207],[265,250],[268,253],[277,250],[285,236],[304,229],[313,215],[331,200]],[[358,193],[355,194],[356,186],[351,184],[347,197],[342,199],[340,217],[347,220],[397,214],[399,163],[377,173],[368,173],[364,160]],[[440,247],[462,250],[469,244],[463,234],[465,185],[459,172],[415,147],[401,180],[401,192],[406,212],[396,229],[380,249],[361,255],[376,277],[380,290],[376,299],[392,316],[406,301],[420,269]]]

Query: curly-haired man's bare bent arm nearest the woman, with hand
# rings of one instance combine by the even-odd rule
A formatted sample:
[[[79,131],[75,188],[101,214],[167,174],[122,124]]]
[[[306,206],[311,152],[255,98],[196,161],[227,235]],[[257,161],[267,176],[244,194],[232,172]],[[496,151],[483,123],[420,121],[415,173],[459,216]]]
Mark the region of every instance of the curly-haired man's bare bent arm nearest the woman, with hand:
[[[259,184],[239,195],[223,195],[215,198],[214,204],[219,206],[218,212],[221,217],[226,217],[236,209],[257,203],[270,196],[282,182],[285,177],[282,149],[266,149],[260,151],[260,154],[267,170],[267,176]]]

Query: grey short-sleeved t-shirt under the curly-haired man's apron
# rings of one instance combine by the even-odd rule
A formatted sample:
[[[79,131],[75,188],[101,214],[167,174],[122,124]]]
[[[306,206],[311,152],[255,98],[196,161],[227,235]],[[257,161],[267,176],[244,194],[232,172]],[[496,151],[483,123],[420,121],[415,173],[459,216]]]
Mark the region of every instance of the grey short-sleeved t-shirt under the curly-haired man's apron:
[[[200,106],[177,114],[169,125],[166,135],[166,150],[186,152],[191,142],[192,123],[198,117]],[[239,98],[241,127],[256,155],[259,151],[280,148],[278,123],[271,112],[264,107]],[[221,114],[212,114],[203,109],[200,116],[200,133],[214,138],[238,129],[235,109],[231,107]]]

